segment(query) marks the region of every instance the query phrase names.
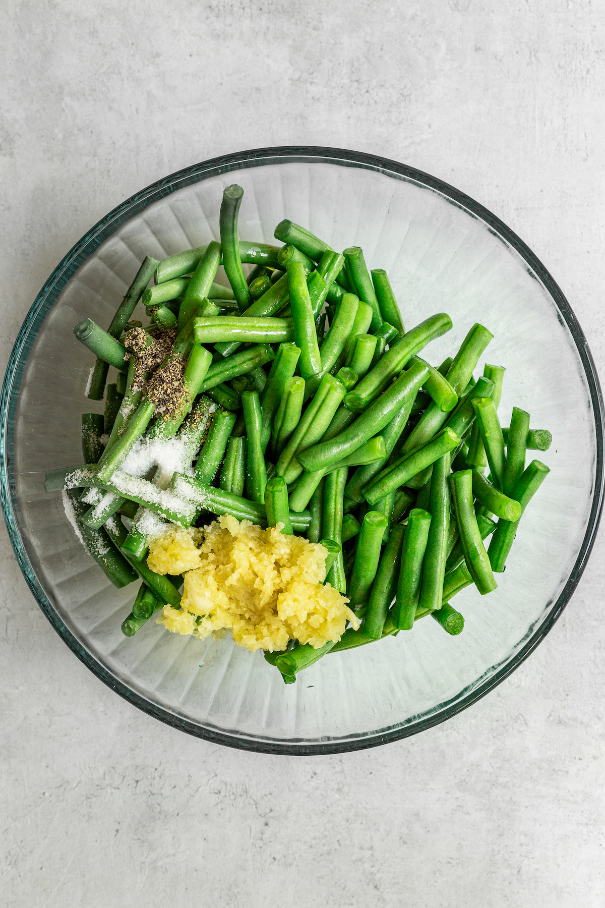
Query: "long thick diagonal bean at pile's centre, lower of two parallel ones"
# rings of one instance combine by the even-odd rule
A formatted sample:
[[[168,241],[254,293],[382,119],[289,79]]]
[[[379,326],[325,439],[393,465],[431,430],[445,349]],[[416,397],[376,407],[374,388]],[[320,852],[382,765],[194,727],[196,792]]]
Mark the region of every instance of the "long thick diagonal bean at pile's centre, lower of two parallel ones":
[[[428,370],[421,363],[415,363],[406,372],[402,372],[399,378],[361,416],[357,417],[352,425],[349,425],[336,437],[327,441],[322,440],[319,444],[308,448],[299,458],[300,463],[310,472],[314,469],[329,467],[330,464],[337,463],[338,460],[351,454],[373,435],[376,435],[376,432],[384,429],[385,425],[404,405],[406,399],[415,398],[427,374]],[[379,497],[382,498],[382,496]]]

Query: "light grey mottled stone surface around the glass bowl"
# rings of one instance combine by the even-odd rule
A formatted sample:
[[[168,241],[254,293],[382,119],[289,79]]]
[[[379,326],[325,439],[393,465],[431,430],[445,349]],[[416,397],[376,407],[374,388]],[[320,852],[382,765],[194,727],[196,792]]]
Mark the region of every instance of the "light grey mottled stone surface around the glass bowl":
[[[602,0],[4,0],[4,368],[44,279],[161,176],[287,143],[374,152],[529,243],[601,369]],[[356,755],[250,755],[143,716],[47,624],[2,530],[6,908],[600,906],[598,540],[570,607],[445,725]]]

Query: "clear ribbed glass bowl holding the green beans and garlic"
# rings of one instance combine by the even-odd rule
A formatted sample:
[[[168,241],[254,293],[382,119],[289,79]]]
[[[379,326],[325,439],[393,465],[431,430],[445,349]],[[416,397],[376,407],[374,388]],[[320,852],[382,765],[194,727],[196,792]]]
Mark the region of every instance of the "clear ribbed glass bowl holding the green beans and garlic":
[[[120,625],[134,586],[116,590],[83,550],[44,471],[82,461],[80,413],[92,355],[73,324],[109,323],[142,257],[219,237],[222,189],[245,196],[240,235],[272,242],[283,218],[335,249],[363,247],[388,270],[405,324],[447,311],[454,331],[434,362],[481,321],[485,359],[506,366],[501,413],[513,404],[551,429],[537,455],[551,474],[522,520],[498,590],[456,597],[464,633],[420,621],[360,649],[327,656],[284,685],[262,655],[171,635],[153,621]],[[482,360],[483,361],[483,360]],[[425,173],[365,154],[272,148],[197,164],[124,202],[54,270],[19,332],[1,402],[6,526],[44,614],[83,663],[151,716],[221,744],[278,754],[327,754],[384,744],[443,722],[529,655],[561,614],[589,556],[603,494],[599,380],[581,328],[548,271],[490,212]]]

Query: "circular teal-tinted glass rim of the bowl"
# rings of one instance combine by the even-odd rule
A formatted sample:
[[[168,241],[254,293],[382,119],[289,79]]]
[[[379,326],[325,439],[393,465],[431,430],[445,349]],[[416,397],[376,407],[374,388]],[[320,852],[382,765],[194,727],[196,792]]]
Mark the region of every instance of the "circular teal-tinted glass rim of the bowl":
[[[144,696],[137,693],[131,687],[124,684],[118,677],[104,666],[102,666],[94,656],[73,636],[72,632],[64,625],[63,621],[54,610],[50,601],[44,594],[44,590],[35,577],[29,558],[27,557],[24,545],[19,536],[15,521],[15,508],[17,500],[15,495],[15,478],[13,475],[13,443],[15,438],[15,406],[18,396],[21,379],[23,377],[25,363],[29,350],[34,343],[34,339],[40,329],[47,312],[54,305],[59,294],[67,281],[71,280],[75,271],[77,271],[83,262],[97,249],[102,242],[108,239],[124,222],[129,221],[132,216],[141,212],[148,207],[151,202],[158,202],[162,198],[176,192],[192,183],[200,183],[210,176],[217,176],[221,173],[231,171],[245,170],[252,166],[265,166],[272,163],[288,162],[309,162],[309,163],[336,163],[340,166],[349,166],[370,170],[373,172],[384,173],[386,176],[398,176],[404,180],[414,183],[420,183],[423,186],[433,189],[446,197],[450,202],[462,207],[466,212],[485,222],[488,227],[498,236],[512,246],[518,252],[524,262],[530,267],[534,274],[542,281],[545,289],[550,293],[562,320],[566,323],[571,336],[576,344],[580,355],[581,363],[584,369],[586,380],[590,390],[590,400],[595,423],[596,435],[596,465],[595,481],[592,493],[592,502],[590,506],[590,517],[581,548],[576,558],[576,562],[571,569],[567,583],[561,590],[556,603],[551,608],[547,617],[542,621],[539,627],[536,627],[532,636],[525,642],[517,653],[507,663],[501,666],[493,675],[483,679],[473,687],[464,696],[456,696],[455,702],[444,708],[439,708],[438,712],[424,715],[408,725],[396,727],[392,730],[385,730],[378,733],[363,733],[362,735],[348,735],[346,739],[331,739],[317,741],[305,741],[297,738],[290,739],[263,739],[254,735],[231,735],[229,731],[215,729],[210,726],[197,725],[184,716],[178,716],[161,706],[156,706]],[[424,729],[431,728],[444,722],[446,719],[462,712],[468,706],[471,706],[489,691],[499,685],[504,678],[522,664],[522,662],[532,653],[542,639],[551,630],[551,627],[561,616],[563,608],[569,602],[571,595],[580,581],[582,572],[586,567],[590,552],[599,528],[600,515],[603,507],[604,491],[604,471],[603,471],[603,450],[605,449],[605,437],[603,434],[603,399],[600,390],[600,381],[595,369],[594,361],[590,353],[588,343],[584,337],[575,314],[571,310],[569,302],[565,299],[559,285],[554,281],[551,274],[544,267],[542,262],[532,252],[522,240],[512,232],[498,217],[488,209],[484,208],[479,202],[475,202],[464,192],[457,190],[454,186],[444,183],[428,173],[417,170],[415,167],[391,161],[374,154],[354,152],[341,148],[324,148],[317,145],[285,145],[271,148],[251,149],[238,153],[220,155],[219,157],[210,158],[208,161],[192,164],[190,167],[183,168],[176,173],[163,177],[161,180],[151,183],[141,192],[136,192],[129,199],[126,199],[120,205],[112,209],[99,222],[86,232],[83,237],[76,242],[72,249],[67,252],[62,261],[56,266],[49,278],[44,282],[44,286],[37,294],[30,310],[28,311],[24,322],[17,334],[15,344],[11,350],[5,371],[2,391],[0,393],[0,503],[2,504],[3,515],[5,518],[6,529],[10,538],[15,558],[21,568],[27,585],[30,587],[36,602],[42,609],[45,617],[51,625],[63,638],[63,641],[69,646],[73,653],[89,668],[95,676],[100,678],[104,684],[111,687],[117,694],[127,700],[133,706],[137,706],[149,716],[160,719],[173,728],[178,728],[190,735],[200,737],[204,740],[215,744],[235,747],[239,750],[249,750],[256,753],[279,754],[279,755],[330,755],[341,754],[349,751],[365,749],[366,747],[375,747],[398,741],[401,738],[415,735]],[[443,706],[443,705],[442,705]]]

